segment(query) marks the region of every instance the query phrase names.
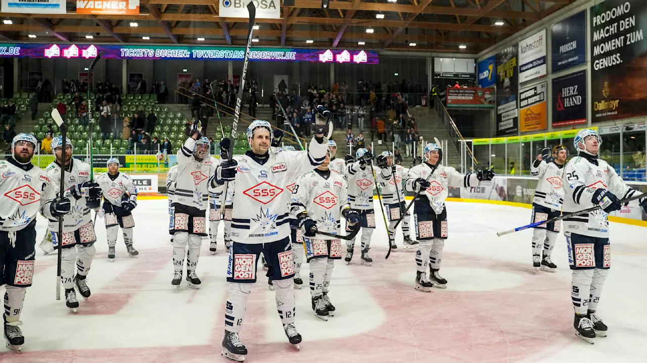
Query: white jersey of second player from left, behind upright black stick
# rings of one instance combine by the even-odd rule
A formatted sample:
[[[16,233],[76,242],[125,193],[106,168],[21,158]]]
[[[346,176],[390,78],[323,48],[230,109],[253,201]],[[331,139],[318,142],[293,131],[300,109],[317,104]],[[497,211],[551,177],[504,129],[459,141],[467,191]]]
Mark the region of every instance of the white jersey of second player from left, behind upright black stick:
[[[65,181],[63,182],[65,196],[70,199],[70,213],[63,216],[64,233],[76,231],[80,226],[92,223],[91,211],[87,206],[86,198],[76,200],[69,192],[72,185],[90,181],[90,164],[74,158],[72,158],[70,163],[71,165],[65,167]],[[52,161],[45,168],[45,172],[47,172],[47,176],[52,181],[52,194],[47,198],[47,205],[43,206],[43,215],[49,220],[49,230],[58,231],[58,217],[52,216],[49,211],[49,205],[60,192],[61,167],[56,161]]]

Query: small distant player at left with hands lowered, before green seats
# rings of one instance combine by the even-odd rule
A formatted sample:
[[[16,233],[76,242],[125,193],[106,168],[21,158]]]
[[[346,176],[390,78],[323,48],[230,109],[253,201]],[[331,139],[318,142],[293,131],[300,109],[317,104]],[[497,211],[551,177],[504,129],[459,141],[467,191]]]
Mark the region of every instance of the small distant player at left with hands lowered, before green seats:
[[[109,158],[108,172],[96,177],[104,194],[105,234],[108,240],[108,260],[115,260],[117,233],[121,227],[128,256],[137,257],[139,252],[133,247],[133,227],[135,220],[131,212],[137,207],[137,190],[133,180],[119,171],[119,159]]]

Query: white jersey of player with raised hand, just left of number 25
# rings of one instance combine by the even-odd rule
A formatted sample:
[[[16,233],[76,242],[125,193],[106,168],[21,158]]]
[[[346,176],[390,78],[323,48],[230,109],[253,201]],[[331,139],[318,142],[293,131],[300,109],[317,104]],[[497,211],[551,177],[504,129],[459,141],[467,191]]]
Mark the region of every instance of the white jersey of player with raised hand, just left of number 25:
[[[559,211],[564,204],[564,187],[562,185],[562,176],[564,175],[564,165],[557,165],[553,161],[547,163],[542,160],[538,167],[535,167],[536,161],[530,166],[530,174],[538,176],[537,188],[534,190],[532,203],[543,205],[544,207]]]

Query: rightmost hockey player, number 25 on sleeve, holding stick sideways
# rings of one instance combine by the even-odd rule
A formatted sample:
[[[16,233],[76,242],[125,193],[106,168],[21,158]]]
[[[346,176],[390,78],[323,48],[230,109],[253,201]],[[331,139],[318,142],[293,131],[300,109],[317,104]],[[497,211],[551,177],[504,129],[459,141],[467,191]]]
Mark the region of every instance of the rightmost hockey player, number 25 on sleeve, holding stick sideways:
[[[613,167],[598,159],[602,144],[595,130],[580,130],[573,139],[578,156],[564,168],[564,214],[599,206],[601,210],[564,218],[564,235],[568,249],[571,275],[571,298],[575,307],[573,327],[578,337],[589,343],[595,337],[606,337],[607,326],[595,310],[600,302],[604,280],[611,267],[608,213],[619,211],[619,199],[639,195],[628,187]],[[647,211],[647,200],[629,203]]]

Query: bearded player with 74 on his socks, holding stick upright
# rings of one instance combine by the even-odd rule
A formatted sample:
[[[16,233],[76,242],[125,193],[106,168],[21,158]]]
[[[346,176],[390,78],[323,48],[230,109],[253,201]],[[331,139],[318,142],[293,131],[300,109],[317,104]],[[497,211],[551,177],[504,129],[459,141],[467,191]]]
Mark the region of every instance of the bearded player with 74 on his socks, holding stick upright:
[[[98,209],[101,203],[101,188],[90,178],[90,164],[72,158],[74,146],[68,138],[63,142],[61,136],[52,139],[54,161],[47,172],[52,181],[53,193],[47,197],[43,215],[49,220],[52,243],[61,248],[61,283],[65,288],[65,305],[76,312],[79,303],[74,285],[81,296],[87,300],[90,287],[86,277],[90,271],[96,249],[96,234],[92,223],[91,209]],[[63,236],[58,236],[58,217],[63,214],[57,206],[60,191],[61,165],[65,165],[65,196],[69,195],[69,213],[63,216]],[[60,241],[60,244],[59,244]],[[76,265],[76,268],[74,267]],[[74,271],[76,270],[76,275]]]

